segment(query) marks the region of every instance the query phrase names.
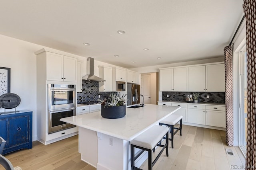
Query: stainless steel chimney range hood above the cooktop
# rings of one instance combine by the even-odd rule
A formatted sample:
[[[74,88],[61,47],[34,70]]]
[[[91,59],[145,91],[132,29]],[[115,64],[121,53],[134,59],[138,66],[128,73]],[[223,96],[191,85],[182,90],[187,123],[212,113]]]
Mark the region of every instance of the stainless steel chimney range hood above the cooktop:
[[[94,58],[88,57],[87,58],[87,74],[82,77],[82,80],[92,80],[92,81],[99,81],[104,82],[102,78],[94,75]]]

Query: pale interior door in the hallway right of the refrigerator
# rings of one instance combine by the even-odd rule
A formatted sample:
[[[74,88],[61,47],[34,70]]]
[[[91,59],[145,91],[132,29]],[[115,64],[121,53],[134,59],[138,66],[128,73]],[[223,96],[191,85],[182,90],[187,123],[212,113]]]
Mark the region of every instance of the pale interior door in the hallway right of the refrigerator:
[[[150,83],[151,83],[151,75],[142,75],[141,76],[141,90],[140,94],[144,96],[144,104],[151,104],[151,97],[150,97]],[[140,98],[140,103],[142,103],[142,97]]]

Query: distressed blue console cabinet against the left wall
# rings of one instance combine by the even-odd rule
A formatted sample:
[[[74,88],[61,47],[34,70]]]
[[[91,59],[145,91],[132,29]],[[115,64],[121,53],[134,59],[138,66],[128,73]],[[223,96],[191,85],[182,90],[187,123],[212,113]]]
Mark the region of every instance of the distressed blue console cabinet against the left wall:
[[[1,113],[0,136],[6,140],[3,154],[32,148],[32,111]]]

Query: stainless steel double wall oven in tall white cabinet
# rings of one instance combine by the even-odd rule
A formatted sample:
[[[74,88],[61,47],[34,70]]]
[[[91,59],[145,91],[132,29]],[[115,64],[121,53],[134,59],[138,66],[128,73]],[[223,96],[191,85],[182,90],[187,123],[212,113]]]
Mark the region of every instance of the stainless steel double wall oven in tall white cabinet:
[[[76,85],[48,84],[48,134],[75,127],[60,121],[76,115]]]

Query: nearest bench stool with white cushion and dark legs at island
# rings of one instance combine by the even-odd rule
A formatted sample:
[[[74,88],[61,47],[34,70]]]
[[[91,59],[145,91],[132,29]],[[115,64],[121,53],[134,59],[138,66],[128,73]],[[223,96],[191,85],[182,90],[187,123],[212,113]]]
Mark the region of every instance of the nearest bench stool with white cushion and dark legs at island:
[[[159,142],[165,136],[166,143],[165,145],[160,145]],[[146,130],[138,137],[134,138],[130,141],[131,144],[131,166],[132,170],[140,170],[135,166],[135,160],[146,150],[148,151],[148,169],[152,170],[154,164],[161,156],[164,149],[166,149],[166,156],[168,156],[168,136],[169,136],[169,128],[164,126],[154,125],[150,127],[150,129]],[[152,153],[156,146],[162,147],[160,153],[156,156],[153,161]],[[136,156],[134,156],[134,148],[142,149]]]

